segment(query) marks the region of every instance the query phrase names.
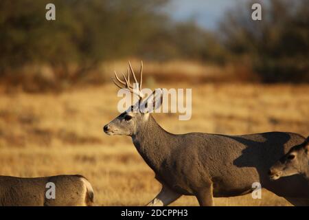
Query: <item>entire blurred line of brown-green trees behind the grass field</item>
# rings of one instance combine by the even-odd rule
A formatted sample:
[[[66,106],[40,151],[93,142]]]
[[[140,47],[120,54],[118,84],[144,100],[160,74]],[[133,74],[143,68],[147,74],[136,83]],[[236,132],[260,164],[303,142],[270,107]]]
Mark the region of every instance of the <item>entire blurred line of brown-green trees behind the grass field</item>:
[[[237,63],[263,83],[309,82],[308,0],[261,2],[262,21],[251,19],[252,3],[238,3],[218,31],[174,21],[169,2],[54,0],[56,21],[46,21],[50,1],[2,0],[0,77],[23,81],[23,67],[48,65],[57,80],[75,82],[103,61],[136,57]]]

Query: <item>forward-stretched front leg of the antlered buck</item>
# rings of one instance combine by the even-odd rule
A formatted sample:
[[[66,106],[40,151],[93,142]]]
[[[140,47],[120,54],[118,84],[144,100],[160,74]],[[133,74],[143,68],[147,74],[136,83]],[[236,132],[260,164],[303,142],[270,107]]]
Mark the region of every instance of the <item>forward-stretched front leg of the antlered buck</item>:
[[[168,186],[162,186],[161,191],[146,206],[168,206],[170,203],[181,197],[181,194],[174,192]]]

